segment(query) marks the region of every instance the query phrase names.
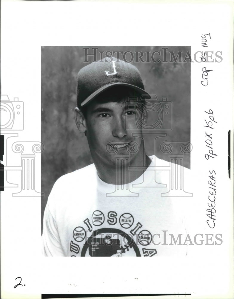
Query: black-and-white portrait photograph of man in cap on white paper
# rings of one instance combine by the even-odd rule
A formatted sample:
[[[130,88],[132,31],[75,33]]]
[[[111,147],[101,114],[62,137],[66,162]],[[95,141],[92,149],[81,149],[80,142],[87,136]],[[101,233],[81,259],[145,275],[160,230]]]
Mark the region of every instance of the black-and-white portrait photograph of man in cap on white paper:
[[[42,47],[45,256],[187,254],[190,63],[190,47]]]

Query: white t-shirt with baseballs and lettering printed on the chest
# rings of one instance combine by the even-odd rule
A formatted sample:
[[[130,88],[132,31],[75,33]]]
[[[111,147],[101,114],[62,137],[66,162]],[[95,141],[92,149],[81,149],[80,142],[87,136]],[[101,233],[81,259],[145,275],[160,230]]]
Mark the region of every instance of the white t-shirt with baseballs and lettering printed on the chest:
[[[147,170],[127,185],[101,181],[94,164],[61,176],[44,211],[43,254],[185,256],[191,195],[184,191],[192,192],[185,182],[190,170],[173,164],[184,175],[175,186],[172,164],[156,156],[150,159]]]

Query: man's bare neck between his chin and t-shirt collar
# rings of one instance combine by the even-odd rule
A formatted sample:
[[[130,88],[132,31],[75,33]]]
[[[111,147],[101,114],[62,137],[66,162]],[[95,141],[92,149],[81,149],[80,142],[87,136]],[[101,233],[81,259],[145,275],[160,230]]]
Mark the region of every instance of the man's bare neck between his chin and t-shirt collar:
[[[107,184],[124,185],[138,179],[151,163],[150,158],[144,153],[141,158],[128,161],[127,158],[119,158],[116,165],[112,167],[100,163],[95,163],[99,178]],[[139,170],[130,169],[131,167],[140,167]]]

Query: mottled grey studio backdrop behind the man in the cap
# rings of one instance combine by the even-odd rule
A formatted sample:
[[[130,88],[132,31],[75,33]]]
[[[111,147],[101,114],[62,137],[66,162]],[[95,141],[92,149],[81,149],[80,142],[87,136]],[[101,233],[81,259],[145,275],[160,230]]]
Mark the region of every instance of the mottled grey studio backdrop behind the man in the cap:
[[[164,141],[190,142],[190,62],[186,54],[190,47],[186,46],[90,46],[98,48],[96,60],[105,57],[106,51],[131,51],[134,54],[133,63],[141,73],[145,90],[149,94],[156,94],[160,101],[167,97],[172,102],[173,122],[172,130],[163,131],[166,137],[157,139],[156,148],[154,137],[145,135],[145,148],[147,155],[156,155],[158,158],[169,161],[169,154],[160,150]],[[78,71],[92,62],[93,56],[85,56],[83,46],[43,46],[41,48],[41,142],[45,149],[41,154],[41,219],[47,198],[55,181],[62,175],[85,167],[93,163],[88,143],[84,134],[79,133],[73,116],[76,107],[76,80]],[[163,57],[162,48],[168,48]],[[104,52],[101,52],[104,51]],[[150,62],[136,62],[136,51],[150,51]],[[155,60],[168,62],[152,62],[151,53]],[[169,62],[173,51],[176,55],[181,51],[182,62]],[[129,55],[128,55],[129,54]],[[110,54],[109,54],[110,55]],[[117,54],[113,55],[117,57]],[[139,55],[138,55],[139,56]],[[130,53],[125,60],[130,61]],[[123,60],[120,54],[119,59]],[[147,61],[147,56],[142,56]],[[173,59],[172,59],[173,60]],[[84,62],[87,61],[87,62]],[[164,119],[162,129],[170,127],[170,119]],[[180,153],[179,145],[173,145],[175,152]],[[176,148],[177,147],[177,148]],[[190,154],[184,155],[184,166],[190,168]]]

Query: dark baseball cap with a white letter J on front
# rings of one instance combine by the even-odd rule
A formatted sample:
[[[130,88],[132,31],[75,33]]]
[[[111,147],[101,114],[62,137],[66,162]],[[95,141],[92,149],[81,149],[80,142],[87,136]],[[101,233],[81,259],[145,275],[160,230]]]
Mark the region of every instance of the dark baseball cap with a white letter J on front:
[[[104,90],[118,85],[127,86],[150,99],[150,95],[144,90],[138,69],[129,62],[108,57],[94,61],[79,71],[77,106],[87,105]]]

